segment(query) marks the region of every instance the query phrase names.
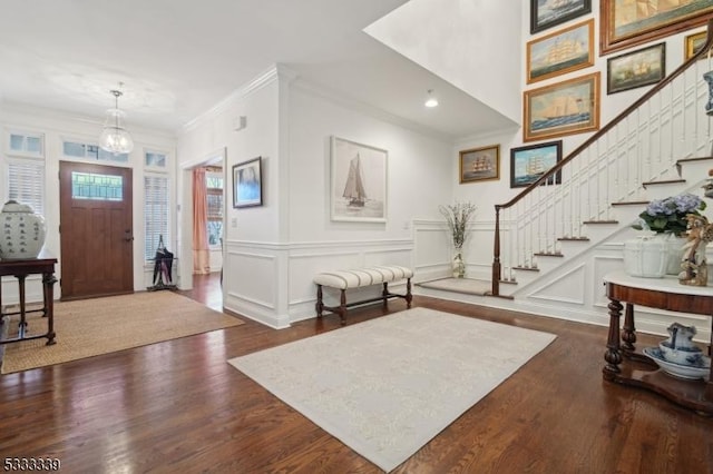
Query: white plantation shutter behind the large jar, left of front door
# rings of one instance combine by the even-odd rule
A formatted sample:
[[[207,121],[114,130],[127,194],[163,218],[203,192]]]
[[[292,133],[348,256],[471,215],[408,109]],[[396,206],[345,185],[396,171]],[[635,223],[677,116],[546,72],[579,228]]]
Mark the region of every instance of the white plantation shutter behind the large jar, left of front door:
[[[8,159],[8,199],[32,207],[45,215],[45,161]]]

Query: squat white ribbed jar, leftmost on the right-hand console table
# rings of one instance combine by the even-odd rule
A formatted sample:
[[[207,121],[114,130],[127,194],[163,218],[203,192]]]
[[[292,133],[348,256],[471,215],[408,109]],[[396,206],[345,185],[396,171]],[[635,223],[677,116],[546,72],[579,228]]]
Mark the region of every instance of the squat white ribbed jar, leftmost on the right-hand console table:
[[[624,269],[644,278],[663,278],[668,267],[668,241],[665,235],[639,236],[624,243]]]

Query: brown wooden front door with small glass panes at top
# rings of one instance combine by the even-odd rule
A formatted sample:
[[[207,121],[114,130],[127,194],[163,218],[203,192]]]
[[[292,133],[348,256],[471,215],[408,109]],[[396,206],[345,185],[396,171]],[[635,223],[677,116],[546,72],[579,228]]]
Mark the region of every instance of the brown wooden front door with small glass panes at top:
[[[134,292],[131,169],[60,161],[61,298]]]

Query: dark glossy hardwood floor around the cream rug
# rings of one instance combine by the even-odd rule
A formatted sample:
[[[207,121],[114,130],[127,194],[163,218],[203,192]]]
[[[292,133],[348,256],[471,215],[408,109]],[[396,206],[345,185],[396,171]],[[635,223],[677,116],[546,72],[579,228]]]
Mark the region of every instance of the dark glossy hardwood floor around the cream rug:
[[[214,284],[206,278],[189,296],[214,302]],[[602,379],[606,328],[426,297],[414,305],[558,337],[394,472],[713,473],[713,418]],[[349,323],[403,309],[402,300],[352,309]],[[334,315],[282,330],[245,318],[2,375],[2,461],[57,457],[69,473],[378,473],[226,363],[339,327]]]

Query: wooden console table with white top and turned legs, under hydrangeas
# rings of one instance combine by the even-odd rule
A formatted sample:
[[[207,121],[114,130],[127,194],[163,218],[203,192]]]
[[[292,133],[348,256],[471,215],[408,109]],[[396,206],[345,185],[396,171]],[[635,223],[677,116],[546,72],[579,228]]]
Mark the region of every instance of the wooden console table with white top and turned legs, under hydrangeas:
[[[604,379],[647,388],[699,413],[713,415],[713,368],[707,382],[666,374],[655,362],[636,350],[634,324],[634,305],[713,318],[713,288],[681,285],[676,277],[637,278],[624,271],[607,274],[604,285],[611,300]],[[624,308],[621,302],[626,303],[626,313],[619,330]]]

